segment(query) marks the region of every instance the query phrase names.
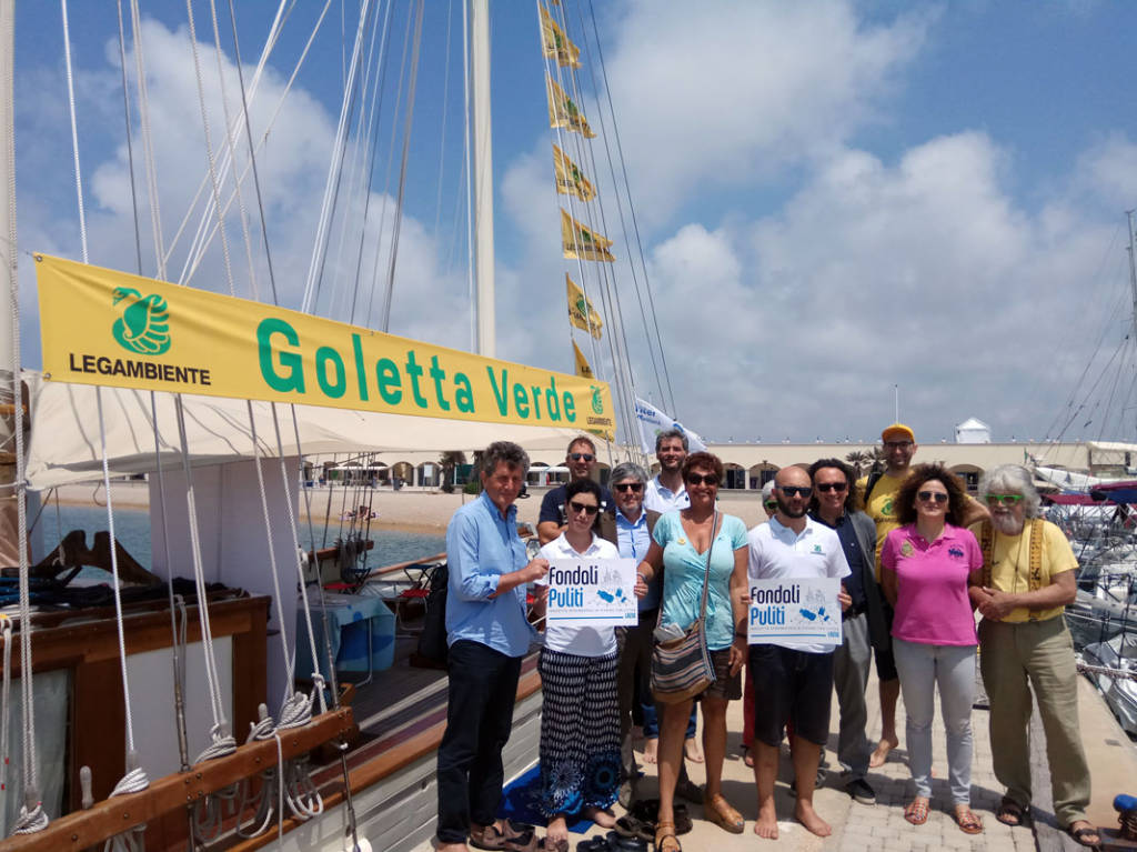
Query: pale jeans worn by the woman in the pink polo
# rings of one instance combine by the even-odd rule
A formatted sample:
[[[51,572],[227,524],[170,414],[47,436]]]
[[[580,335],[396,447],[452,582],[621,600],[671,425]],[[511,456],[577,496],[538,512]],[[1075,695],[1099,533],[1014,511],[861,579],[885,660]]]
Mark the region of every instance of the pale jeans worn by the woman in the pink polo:
[[[916,795],[931,799],[931,720],[936,686],[947,729],[947,776],[954,804],[971,803],[971,704],[976,697],[976,646],[924,645],[893,637],[907,713],[905,743]]]

